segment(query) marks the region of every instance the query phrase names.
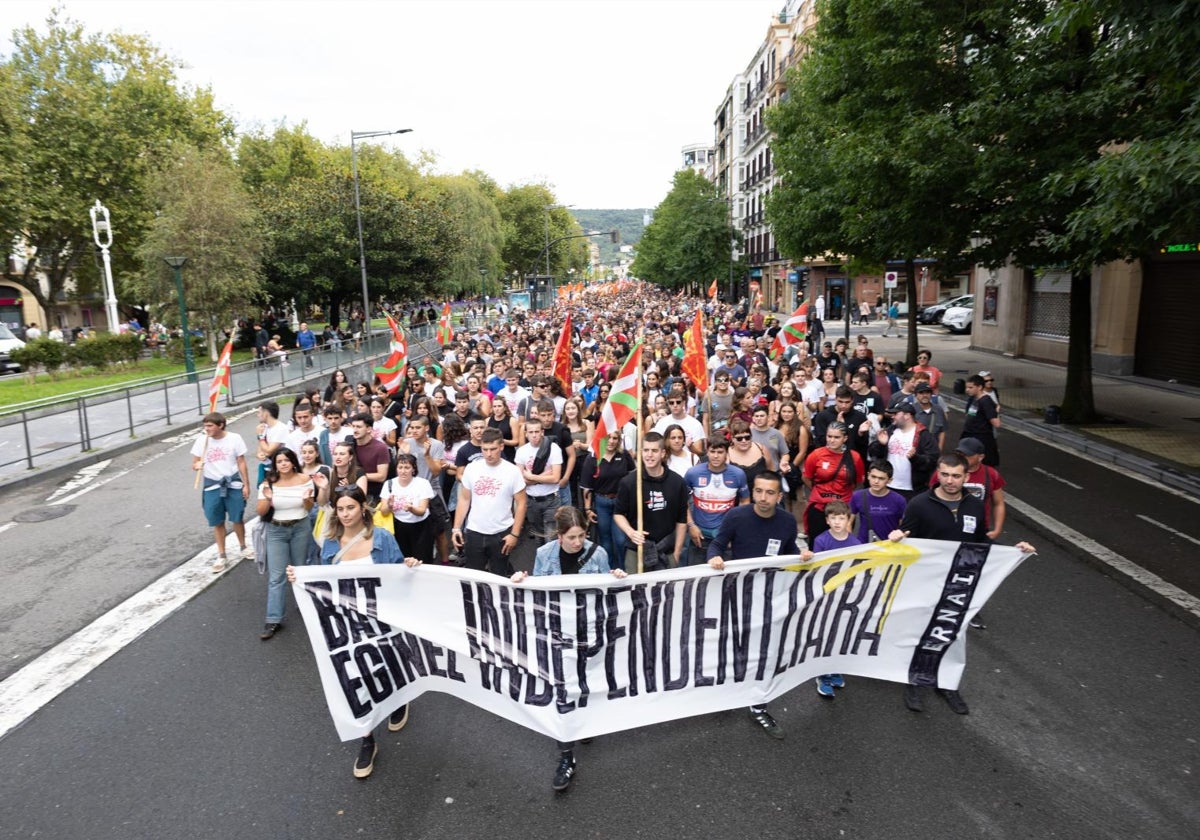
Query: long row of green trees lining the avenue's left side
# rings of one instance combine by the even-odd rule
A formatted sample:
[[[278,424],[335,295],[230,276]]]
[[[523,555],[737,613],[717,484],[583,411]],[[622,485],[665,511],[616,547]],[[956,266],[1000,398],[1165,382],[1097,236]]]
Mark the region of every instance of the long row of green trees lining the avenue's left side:
[[[11,280],[53,313],[74,286],[98,288],[89,208],[110,210],[118,298],[172,324],[164,256],[188,258],[188,308],[209,335],[272,302],[330,317],[361,296],[350,149],[304,125],[240,134],[211,91],[179,82],[151,42],[90,34],[52,12],[12,36],[0,62],[0,239],[29,259]],[[359,144],[372,299],[425,300],[544,271],[550,238],[580,233],[545,184],[502,188],[481,172]],[[587,265],[584,240],[551,250],[551,269]],[[53,316],[52,316],[53,317]],[[211,348],[215,353],[215,348]]]

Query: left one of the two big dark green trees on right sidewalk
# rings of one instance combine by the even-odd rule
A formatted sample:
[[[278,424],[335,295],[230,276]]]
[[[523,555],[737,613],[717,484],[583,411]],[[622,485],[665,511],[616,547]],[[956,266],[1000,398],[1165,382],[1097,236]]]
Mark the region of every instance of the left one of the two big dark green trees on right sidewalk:
[[[964,211],[977,150],[965,132],[976,100],[970,62],[994,60],[1019,2],[826,0],[788,97],[768,114],[782,185],[767,215],[780,250],[797,258],[905,260],[943,275],[968,265]],[[986,34],[986,41],[978,38]],[[970,44],[970,49],[965,47]],[[916,307],[907,358],[916,359]]]

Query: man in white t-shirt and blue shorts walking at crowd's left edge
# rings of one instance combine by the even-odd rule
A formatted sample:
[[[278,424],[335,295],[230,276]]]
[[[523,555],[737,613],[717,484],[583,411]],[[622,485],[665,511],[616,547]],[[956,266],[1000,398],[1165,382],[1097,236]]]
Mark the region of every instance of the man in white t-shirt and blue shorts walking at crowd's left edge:
[[[246,526],[241,523],[250,498],[250,473],[246,468],[246,442],[236,432],[226,431],[226,416],[214,412],[204,416],[204,434],[192,444],[192,469],[204,470],[204,491],[200,500],[204,516],[212,528],[217,544],[217,559],[212,571],[226,569],[226,518],[233,522],[241,556],[250,559],[254,552],[246,546]]]

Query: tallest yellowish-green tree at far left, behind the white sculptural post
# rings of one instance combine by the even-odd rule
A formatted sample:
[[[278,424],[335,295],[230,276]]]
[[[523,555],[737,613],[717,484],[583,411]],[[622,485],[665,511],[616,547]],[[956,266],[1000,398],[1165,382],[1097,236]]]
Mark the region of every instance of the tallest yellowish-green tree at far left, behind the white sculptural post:
[[[0,230],[36,252],[18,280],[53,313],[68,281],[86,290],[96,276],[89,208],[112,211],[120,280],[151,220],[145,182],[178,143],[218,146],[232,133],[208,90],[179,85],[176,64],[137,35],[90,35],[50,13],[46,31],[13,34],[0,95],[13,137],[0,155]],[[37,275],[44,275],[44,288]]]

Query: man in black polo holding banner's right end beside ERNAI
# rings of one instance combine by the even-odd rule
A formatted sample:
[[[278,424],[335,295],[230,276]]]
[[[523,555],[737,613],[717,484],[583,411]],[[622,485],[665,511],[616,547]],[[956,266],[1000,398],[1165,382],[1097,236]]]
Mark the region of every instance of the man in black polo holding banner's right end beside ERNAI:
[[[967,462],[958,452],[943,455],[937,460],[937,485],[908,500],[900,527],[893,530],[888,539],[900,541],[906,536],[920,540],[952,540],[955,542],[986,542],[986,521],[983,500],[962,492],[967,479]],[[1036,554],[1028,542],[1018,542],[1016,547],[1026,554]],[[970,714],[971,709],[962,695],[954,689],[938,689],[937,692],[955,714]],[[904,702],[911,712],[924,712],[920,686],[905,686]]]

